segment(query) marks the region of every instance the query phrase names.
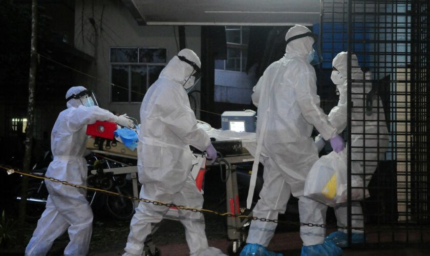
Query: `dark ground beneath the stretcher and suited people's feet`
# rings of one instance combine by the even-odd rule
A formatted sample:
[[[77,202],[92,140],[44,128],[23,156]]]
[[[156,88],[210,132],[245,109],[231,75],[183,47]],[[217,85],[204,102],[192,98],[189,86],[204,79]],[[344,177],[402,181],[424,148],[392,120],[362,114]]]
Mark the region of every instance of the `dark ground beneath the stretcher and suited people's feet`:
[[[212,176],[207,176],[206,179],[211,179],[212,183],[206,183],[205,188],[205,205],[204,208],[214,209],[220,212],[225,211],[225,195],[223,187],[219,179],[219,173],[213,173]],[[246,198],[246,197],[244,197]],[[298,221],[296,199],[291,199],[287,214],[280,216],[281,220],[292,222]],[[334,231],[335,219],[332,209],[328,211],[328,224],[332,226],[327,232]],[[227,241],[227,231],[224,217],[214,215],[205,215],[206,236],[210,246],[220,248],[224,253],[227,253],[227,248],[230,242]],[[93,224],[93,234],[90,244],[89,255],[92,256],[114,256],[121,255],[125,246],[127,235],[130,230],[130,221],[115,221],[103,216],[103,212],[96,211]],[[35,223],[28,224],[25,230],[25,244],[28,243],[31,234],[36,227]],[[387,227],[388,230],[389,227]],[[392,241],[419,242],[422,240],[430,242],[430,232],[424,233],[408,233],[406,237],[404,231],[393,231],[385,233],[369,234],[368,240],[371,244],[376,241],[381,243],[376,246],[356,247],[344,250],[345,255],[394,255],[394,256],[409,256],[409,255],[430,255],[429,247],[423,248],[417,246],[406,247],[401,243],[392,243]],[[178,221],[163,220],[160,229],[155,233],[153,240],[157,247],[161,250],[161,255],[188,255],[189,250],[185,241],[184,228]],[[64,248],[69,241],[67,233],[58,238],[49,255],[62,255]],[[383,243],[386,244],[383,244]],[[425,243],[424,245],[430,245]],[[296,225],[279,225],[274,238],[272,239],[269,249],[281,252],[284,255],[300,255],[302,242],[298,234],[298,226]],[[0,255],[24,255],[24,248],[14,248],[13,250],[2,250]]]

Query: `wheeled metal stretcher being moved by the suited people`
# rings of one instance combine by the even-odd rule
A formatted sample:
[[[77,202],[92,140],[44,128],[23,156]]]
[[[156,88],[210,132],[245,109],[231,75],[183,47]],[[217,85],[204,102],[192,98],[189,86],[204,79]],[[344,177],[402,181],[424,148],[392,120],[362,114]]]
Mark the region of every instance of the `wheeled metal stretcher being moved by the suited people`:
[[[212,134],[213,135],[213,134]],[[114,142],[114,143],[112,143]],[[242,142],[240,142],[242,144]],[[225,147],[222,143],[212,143],[213,146],[217,151],[223,151],[225,150]],[[246,143],[244,143],[246,144]],[[255,144],[255,143],[254,143]],[[122,158],[129,158],[129,159],[137,159],[137,150],[130,150],[130,148],[127,148],[124,144],[115,142],[115,140],[109,140],[101,137],[89,137],[87,139],[87,149],[90,150],[93,153],[101,154],[106,157],[109,156],[115,156],[115,157],[122,157]],[[252,143],[248,144],[250,148],[252,147]],[[251,150],[252,151],[252,150]],[[234,154],[229,154],[234,153]],[[196,180],[196,185],[198,186],[199,190],[203,194],[203,176],[206,170],[208,170],[211,167],[219,166],[219,163],[214,163],[213,165],[210,163],[209,160],[206,160],[206,158],[202,154],[195,154],[196,156],[196,163],[194,163],[193,168],[191,170],[191,174],[193,178]],[[227,206],[227,212],[231,212],[232,214],[240,214],[240,202],[239,202],[239,193],[238,193],[238,181],[236,176],[236,166],[238,164],[247,163],[247,162],[253,162],[254,158],[250,154],[250,152],[245,148],[242,147],[240,151],[238,152],[227,152],[226,155],[223,155],[222,157],[223,161],[220,161],[223,168],[228,171],[228,175],[226,175],[226,206]],[[96,174],[96,170],[92,170],[92,174]],[[138,198],[139,197],[139,191],[138,191],[138,177],[137,177],[137,166],[126,166],[126,167],[120,167],[120,168],[110,168],[110,169],[104,169],[104,173],[110,173],[113,174],[131,174],[132,183],[133,183],[133,196]],[[138,201],[134,201],[135,207],[138,205]],[[169,219],[176,219],[177,216],[177,209],[169,209],[168,214],[166,215]],[[245,236],[242,232],[243,225],[247,222],[245,219],[244,221],[241,221],[241,219],[236,217],[227,217],[227,238],[229,241],[231,241],[230,248],[231,252],[238,252],[240,249],[240,246],[245,241]],[[155,229],[156,230],[156,229]],[[153,232],[155,232],[153,230]],[[155,251],[152,249],[152,251]]]

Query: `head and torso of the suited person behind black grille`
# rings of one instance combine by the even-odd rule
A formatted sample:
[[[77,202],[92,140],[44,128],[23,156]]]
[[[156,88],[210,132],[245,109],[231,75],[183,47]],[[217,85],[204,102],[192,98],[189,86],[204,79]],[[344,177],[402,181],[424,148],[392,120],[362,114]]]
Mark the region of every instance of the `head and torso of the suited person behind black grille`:
[[[348,104],[347,104],[347,74],[348,74],[348,53],[340,52],[333,59],[333,67],[335,67],[345,81],[337,88],[339,89],[339,102],[329,114],[329,121],[333,124],[337,131],[341,132],[347,127]],[[365,82],[365,76],[358,66],[357,56],[351,55],[352,73],[351,78],[359,80],[351,83],[351,99],[353,108],[351,110],[351,145],[352,145],[352,161],[353,172],[365,172],[372,174],[376,169],[376,160],[383,159],[383,154],[388,147],[388,129],[385,123],[385,115],[382,101],[379,97],[372,98],[371,115],[366,114],[367,106],[364,105],[364,99],[367,100],[369,92],[372,89],[370,82]],[[363,81],[360,81],[363,80]],[[379,148],[378,148],[379,147]],[[365,156],[363,149],[365,148]],[[379,154],[378,154],[379,151]],[[365,177],[365,185],[368,184],[372,176]]]

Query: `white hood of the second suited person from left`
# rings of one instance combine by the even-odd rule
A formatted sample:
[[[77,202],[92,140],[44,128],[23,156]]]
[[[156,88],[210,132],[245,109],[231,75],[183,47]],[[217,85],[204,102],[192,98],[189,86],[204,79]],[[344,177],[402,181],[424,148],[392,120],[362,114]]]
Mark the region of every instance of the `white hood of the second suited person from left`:
[[[201,67],[199,57],[195,52],[189,49],[182,49],[178,56],[183,56],[187,60],[195,62],[197,66]],[[161,71],[160,77],[167,78],[170,81],[183,84],[188,80],[190,75],[194,72],[194,69],[188,63],[180,60],[177,56],[174,56]],[[191,81],[188,81],[190,83]],[[192,86],[192,84],[191,84]],[[185,86],[184,86],[185,87]]]

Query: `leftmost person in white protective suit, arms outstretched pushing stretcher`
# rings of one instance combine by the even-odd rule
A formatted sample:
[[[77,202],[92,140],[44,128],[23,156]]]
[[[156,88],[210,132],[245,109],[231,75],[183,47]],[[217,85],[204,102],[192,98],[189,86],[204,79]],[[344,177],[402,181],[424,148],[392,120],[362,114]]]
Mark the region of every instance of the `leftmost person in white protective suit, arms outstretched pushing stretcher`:
[[[85,140],[87,124],[111,121],[133,127],[133,121],[99,108],[91,91],[82,86],[72,87],[66,93],[67,109],[62,111],[51,133],[54,160],[49,164],[46,177],[85,185],[87,161]],[[65,255],[86,255],[90,245],[93,212],[85,198],[87,191],[46,180],[49,196],[46,209],[37,222],[25,255],[46,255],[56,238],[66,230],[70,242]]]

